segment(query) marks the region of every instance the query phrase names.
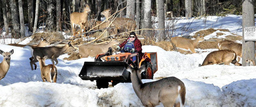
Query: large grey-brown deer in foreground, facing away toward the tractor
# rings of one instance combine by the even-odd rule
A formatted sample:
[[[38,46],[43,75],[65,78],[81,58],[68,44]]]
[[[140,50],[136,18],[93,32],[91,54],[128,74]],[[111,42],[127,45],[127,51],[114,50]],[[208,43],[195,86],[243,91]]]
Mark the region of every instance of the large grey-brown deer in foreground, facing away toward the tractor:
[[[184,107],[186,88],[176,77],[166,77],[157,81],[142,83],[140,73],[147,65],[132,68],[124,63],[125,69],[131,72],[132,88],[145,107],[155,107],[160,102],[164,107]]]

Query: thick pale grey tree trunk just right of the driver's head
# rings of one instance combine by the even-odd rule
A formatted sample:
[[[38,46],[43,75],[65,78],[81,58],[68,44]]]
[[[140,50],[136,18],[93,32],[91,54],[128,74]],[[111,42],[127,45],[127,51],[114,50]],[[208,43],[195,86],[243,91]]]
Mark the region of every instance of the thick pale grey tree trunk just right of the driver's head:
[[[144,19],[143,29],[151,29],[151,0],[144,1]],[[144,30],[143,36],[152,37],[152,30]]]

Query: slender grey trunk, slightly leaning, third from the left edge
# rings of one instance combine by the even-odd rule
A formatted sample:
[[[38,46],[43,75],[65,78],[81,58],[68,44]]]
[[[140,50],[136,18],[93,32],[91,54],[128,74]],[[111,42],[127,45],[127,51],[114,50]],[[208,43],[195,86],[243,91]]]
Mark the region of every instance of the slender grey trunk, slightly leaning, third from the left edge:
[[[20,13],[20,37],[21,37],[21,39],[23,39],[24,37],[26,37],[26,35],[25,35],[23,8],[22,8],[21,0],[19,0],[19,13]]]

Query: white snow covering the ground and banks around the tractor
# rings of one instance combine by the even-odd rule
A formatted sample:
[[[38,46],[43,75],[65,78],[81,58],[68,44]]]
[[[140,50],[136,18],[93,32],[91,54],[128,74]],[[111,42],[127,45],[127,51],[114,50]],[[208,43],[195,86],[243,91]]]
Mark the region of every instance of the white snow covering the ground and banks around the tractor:
[[[194,20],[191,29],[205,28],[228,29],[231,33],[242,35],[239,28],[241,16],[208,17]],[[192,20],[179,20],[178,24]],[[208,27],[207,27],[208,26]],[[177,30],[177,32],[182,32]],[[216,37],[216,31],[204,38]],[[186,33],[186,32],[184,32]],[[196,31],[190,32],[193,35]],[[221,32],[230,35],[230,32]],[[218,36],[223,37],[224,36]],[[26,44],[29,38],[24,41]],[[3,43],[3,42],[0,42]],[[58,58],[57,83],[43,83],[39,69],[31,70],[29,64],[30,51],[20,47],[0,44],[0,50],[9,52],[11,66],[6,76],[0,80],[0,106],[21,107],[142,107],[136,96],[132,83],[119,83],[115,87],[97,89],[96,82],[83,81],[78,74],[84,61],[94,61],[93,58],[82,58],[63,61]],[[202,64],[208,53],[217,49],[201,50],[199,53],[184,55],[175,51],[165,51],[157,46],[142,46],[143,52],[157,52],[158,71],[154,80],[143,79],[142,82],[156,81],[158,77],[177,77],[186,86],[186,107],[255,107],[256,79],[255,66],[207,65]],[[206,52],[205,52],[206,51]],[[3,56],[0,56],[3,60]],[[51,64],[46,60],[46,64]],[[241,63],[241,61],[240,61]],[[163,107],[162,104],[157,107]]]

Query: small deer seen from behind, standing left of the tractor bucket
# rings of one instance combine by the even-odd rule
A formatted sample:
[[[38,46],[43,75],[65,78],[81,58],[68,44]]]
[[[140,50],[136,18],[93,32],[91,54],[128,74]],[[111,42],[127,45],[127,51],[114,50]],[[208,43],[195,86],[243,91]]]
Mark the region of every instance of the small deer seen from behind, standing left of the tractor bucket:
[[[43,82],[54,82],[57,81],[57,68],[54,64],[45,65],[45,60],[47,56],[39,57],[36,56],[36,59],[39,61],[39,66],[41,70],[41,77]]]

